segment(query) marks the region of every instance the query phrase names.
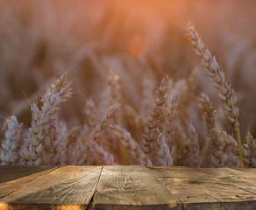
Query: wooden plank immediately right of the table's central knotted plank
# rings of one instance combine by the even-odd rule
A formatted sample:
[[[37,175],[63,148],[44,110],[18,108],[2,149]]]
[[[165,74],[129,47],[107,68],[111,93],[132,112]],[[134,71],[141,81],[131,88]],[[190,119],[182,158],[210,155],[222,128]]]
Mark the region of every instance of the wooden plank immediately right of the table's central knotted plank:
[[[183,204],[183,209],[256,209],[256,196],[187,167],[148,168]]]

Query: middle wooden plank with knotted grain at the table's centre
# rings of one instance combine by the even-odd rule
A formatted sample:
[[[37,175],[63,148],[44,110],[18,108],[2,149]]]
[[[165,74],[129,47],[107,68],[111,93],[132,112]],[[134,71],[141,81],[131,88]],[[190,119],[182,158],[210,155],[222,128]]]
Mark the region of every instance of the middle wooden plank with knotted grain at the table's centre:
[[[90,209],[181,209],[181,203],[142,165],[103,166]]]

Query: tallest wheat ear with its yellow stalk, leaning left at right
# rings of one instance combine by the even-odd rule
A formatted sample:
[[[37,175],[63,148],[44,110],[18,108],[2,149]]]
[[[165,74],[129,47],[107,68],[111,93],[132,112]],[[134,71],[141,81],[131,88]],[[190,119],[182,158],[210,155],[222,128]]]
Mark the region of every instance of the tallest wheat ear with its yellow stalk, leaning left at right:
[[[202,64],[210,76],[210,79],[215,88],[219,91],[218,96],[224,101],[224,109],[227,113],[227,118],[233,123],[238,136],[238,148],[241,166],[244,167],[243,152],[241,146],[241,138],[239,131],[238,115],[239,109],[236,106],[236,95],[231,88],[231,84],[225,81],[224,72],[219,70],[215,56],[210,54],[208,49],[205,49],[203,40],[195,30],[195,27],[188,23],[187,38],[191,45],[194,46],[196,54],[202,59]]]

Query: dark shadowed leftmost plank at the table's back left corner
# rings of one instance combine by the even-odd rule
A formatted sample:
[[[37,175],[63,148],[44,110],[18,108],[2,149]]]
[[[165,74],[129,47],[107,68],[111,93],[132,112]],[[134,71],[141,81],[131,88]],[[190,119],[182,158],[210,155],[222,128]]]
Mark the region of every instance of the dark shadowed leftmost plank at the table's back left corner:
[[[0,198],[52,172],[56,166],[6,166],[1,167]],[[21,178],[20,178],[21,177]],[[11,180],[11,181],[9,181]],[[5,181],[5,182],[4,182]]]

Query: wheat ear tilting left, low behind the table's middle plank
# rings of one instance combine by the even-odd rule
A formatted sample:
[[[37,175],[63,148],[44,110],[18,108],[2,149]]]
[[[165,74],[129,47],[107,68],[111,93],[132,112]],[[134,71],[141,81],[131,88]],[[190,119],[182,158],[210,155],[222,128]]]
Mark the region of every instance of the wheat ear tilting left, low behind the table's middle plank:
[[[146,157],[144,151],[127,130],[117,124],[112,124],[111,128],[118,140],[124,145],[125,151],[128,152],[130,164],[153,166],[151,160]]]

